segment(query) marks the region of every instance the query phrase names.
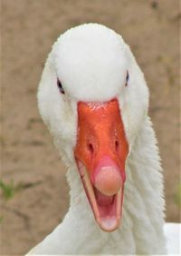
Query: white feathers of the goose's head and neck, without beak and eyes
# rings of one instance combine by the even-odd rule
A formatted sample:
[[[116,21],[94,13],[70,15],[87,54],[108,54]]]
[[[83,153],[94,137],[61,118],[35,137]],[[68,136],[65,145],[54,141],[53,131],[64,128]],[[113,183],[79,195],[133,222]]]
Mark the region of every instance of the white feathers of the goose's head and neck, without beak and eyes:
[[[65,94],[60,94],[57,79]],[[91,212],[74,147],[78,103],[109,102],[113,98],[119,102],[129,156],[121,223],[116,231],[105,232]],[[122,37],[96,24],[80,25],[62,34],[45,64],[38,103],[67,165],[71,203],[63,222],[29,254],[166,254],[163,178],[157,140],[148,118],[148,87]],[[168,236],[170,227],[165,226]]]

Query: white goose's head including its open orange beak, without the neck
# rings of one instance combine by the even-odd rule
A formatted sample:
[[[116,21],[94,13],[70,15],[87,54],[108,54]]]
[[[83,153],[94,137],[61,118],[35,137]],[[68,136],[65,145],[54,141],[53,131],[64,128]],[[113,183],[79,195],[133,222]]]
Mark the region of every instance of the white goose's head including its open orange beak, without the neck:
[[[114,231],[129,154],[148,112],[148,88],[129,46],[104,25],[66,31],[52,46],[38,103],[62,160],[81,177],[96,222]]]

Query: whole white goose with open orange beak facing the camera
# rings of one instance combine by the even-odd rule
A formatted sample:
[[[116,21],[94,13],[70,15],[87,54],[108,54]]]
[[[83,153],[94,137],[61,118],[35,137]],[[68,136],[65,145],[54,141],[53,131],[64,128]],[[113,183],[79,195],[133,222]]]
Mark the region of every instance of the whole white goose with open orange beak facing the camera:
[[[70,207],[28,255],[166,254],[168,233],[168,253],[178,250],[178,227],[165,224],[148,86],[122,37],[98,24],[60,35],[37,98],[67,167]]]

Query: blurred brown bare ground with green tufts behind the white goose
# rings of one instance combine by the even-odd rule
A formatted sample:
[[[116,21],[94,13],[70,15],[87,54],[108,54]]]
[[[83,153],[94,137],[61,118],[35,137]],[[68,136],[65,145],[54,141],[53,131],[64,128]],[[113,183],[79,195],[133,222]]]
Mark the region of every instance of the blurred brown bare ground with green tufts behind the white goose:
[[[179,222],[179,1],[2,0],[1,254],[22,255],[67,212],[65,168],[37,111],[53,42],[96,22],[122,34],[145,74],[165,176],[167,221]]]

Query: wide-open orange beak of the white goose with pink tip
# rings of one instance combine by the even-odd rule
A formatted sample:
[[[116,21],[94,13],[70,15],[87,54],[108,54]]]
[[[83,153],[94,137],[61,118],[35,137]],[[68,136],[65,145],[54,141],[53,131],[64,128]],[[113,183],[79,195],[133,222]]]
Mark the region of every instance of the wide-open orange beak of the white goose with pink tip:
[[[118,100],[78,103],[74,154],[92,212],[103,231],[119,226],[128,153]]]

